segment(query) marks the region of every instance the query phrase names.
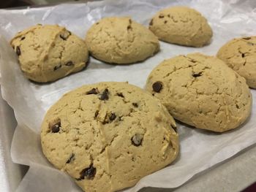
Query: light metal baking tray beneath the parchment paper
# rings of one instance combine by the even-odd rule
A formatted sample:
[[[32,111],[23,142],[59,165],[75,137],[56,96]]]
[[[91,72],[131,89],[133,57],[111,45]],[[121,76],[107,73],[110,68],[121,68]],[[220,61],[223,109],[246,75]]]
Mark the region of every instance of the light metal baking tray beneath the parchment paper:
[[[15,191],[27,167],[13,164],[10,158],[10,145],[16,121],[13,111],[0,98],[0,191]],[[241,191],[255,182],[256,146],[249,147],[235,157],[214,166],[179,188],[145,188],[141,191]]]

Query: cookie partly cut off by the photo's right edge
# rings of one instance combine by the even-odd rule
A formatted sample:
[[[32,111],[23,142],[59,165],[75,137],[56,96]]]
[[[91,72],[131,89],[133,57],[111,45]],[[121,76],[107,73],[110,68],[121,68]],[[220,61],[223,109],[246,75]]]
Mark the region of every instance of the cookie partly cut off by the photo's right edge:
[[[250,88],[256,88],[256,36],[230,40],[219,49],[217,57],[244,77]]]

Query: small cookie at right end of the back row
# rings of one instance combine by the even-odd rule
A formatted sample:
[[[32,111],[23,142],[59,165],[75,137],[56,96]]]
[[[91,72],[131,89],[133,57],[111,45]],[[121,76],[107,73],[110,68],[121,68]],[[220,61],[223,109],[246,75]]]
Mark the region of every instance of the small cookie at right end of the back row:
[[[170,7],[157,12],[149,29],[164,42],[191,47],[207,45],[213,35],[206,18],[189,7]]]

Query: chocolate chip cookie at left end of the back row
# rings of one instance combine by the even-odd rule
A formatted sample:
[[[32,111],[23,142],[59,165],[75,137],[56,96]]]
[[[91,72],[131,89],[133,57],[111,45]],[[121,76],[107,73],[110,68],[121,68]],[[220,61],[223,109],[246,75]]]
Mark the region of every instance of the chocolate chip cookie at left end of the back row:
[[[10,42],[29,80],[50,82],[86,66],[86,43],[66,28],[37,25],[19,32]]]

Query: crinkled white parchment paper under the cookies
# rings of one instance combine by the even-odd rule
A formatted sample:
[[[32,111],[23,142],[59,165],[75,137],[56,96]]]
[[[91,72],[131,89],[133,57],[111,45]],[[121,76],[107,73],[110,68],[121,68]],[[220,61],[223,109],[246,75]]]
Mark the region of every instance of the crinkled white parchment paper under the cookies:
[[[103,64],[91,58],[86,70],[49,84],[35,84],[26,80],[18,66],[17,57],[9,45],[10,39],[23,28],[37,23],[57,23],[84,37],[92,23],[112,15],[131,16],[148,25],[159,9],[173,5],[193,7],[206,16],[214,30],[211,45],[201,48],[182,47],[161,42],[161,51],[152,58],[127,66]],[[18,120],[12,140],[12,159],[30,166],[18,191],[80,191],[63,172],[54,169],[41,151],[39,131],[45,112],[62,94],[81,85],[100,81],[129,81],[141,88],[154,66],[165,58],[178,54],[201,52],[215,55],[219,47],[233,37],[256,34],[256,1],[211,0],[116,0],[89,4],[61,4],[55,7],[0,10],[0,54],[2,96],[15,111]],[[198,172],[230,158],[256,142],[256,91],[252,90],[253,109],[249,120],[241,128],[224,134],[178,126],[181,152],[177,160],[165,169],[144,177],[127,191],[145,186],[175,188]]]

